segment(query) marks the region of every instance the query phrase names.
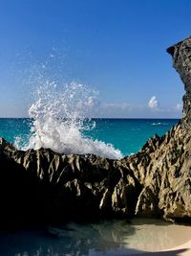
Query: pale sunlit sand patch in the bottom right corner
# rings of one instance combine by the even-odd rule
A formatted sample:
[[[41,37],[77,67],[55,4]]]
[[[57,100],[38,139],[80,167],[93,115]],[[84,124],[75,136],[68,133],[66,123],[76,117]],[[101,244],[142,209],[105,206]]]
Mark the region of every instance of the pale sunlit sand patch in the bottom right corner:
[[[132,255],[191,255],[191,226],[152,220],[136,220],[134,226],[135,234],[123,240],[135,249]]]

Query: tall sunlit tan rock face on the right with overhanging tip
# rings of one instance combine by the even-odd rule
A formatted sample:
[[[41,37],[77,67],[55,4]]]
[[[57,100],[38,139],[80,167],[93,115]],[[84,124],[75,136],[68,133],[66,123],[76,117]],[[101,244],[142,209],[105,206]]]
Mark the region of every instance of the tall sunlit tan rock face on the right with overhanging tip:
[[[142,190],[135,214],[166,220],[191,218],[191,38],[167,49],[184,83],[183,118],[161,138],[149,139],[134,156],[118,162],[133,171]]]

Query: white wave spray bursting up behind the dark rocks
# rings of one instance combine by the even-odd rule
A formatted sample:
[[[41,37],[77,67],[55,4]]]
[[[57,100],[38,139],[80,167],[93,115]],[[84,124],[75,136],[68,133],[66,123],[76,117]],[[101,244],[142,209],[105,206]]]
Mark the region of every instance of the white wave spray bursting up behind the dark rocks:
[[[113,145],[85,137],[83,131],[96,127],[87,119],[96,107],[95,92],[87,86],[72,82],[59,92],[54,82],[46,81],[39,86],[36,101],[29,109],[32,118],[32,134],[28,149],[52,149],[60,153],[94,153],[108,158],[121,158]]]

